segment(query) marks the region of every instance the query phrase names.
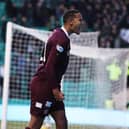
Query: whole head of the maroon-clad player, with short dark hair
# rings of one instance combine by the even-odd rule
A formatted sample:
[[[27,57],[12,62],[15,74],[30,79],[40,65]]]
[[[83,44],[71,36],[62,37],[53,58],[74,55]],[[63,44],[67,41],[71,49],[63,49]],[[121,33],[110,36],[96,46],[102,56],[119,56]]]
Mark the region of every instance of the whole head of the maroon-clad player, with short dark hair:
[[[80,33],[82,15],[78,10],[69,10],[63,16],[63,24],[67,26],[69,33]]]

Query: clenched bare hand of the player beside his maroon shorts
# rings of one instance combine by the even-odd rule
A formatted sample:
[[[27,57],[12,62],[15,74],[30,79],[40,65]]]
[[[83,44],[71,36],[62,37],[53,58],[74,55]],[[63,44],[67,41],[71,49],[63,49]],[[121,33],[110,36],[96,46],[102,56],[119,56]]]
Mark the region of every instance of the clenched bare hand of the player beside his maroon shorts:
[[[64,94],[58,88],[53,89],[52,92],[57,101],[64,100]]]

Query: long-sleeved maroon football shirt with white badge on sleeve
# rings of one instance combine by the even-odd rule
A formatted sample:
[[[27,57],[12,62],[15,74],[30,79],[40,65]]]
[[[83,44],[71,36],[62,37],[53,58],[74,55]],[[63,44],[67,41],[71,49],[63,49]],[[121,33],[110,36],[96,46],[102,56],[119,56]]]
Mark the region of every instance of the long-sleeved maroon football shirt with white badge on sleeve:
[[[44,65],[38,68],[36,76],[48,81],[48,86],[60,88],[62,75],[69,61],[70,40],[62,29],[55,29],[45,48]]]

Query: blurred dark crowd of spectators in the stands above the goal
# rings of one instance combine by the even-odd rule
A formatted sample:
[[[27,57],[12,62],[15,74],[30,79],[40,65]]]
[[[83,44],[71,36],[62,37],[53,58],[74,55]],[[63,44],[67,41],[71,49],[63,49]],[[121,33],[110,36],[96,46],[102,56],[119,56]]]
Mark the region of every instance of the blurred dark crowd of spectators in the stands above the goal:
[[[27,27],[53,30],[61,26],[61,17],[68,9],[78,9],[83,15],[82,31],[100,31],[100,47],[120,47],[115,43],[122,27],[129,28],[128,0],[14,0],[6,2],[2,17],[2,37],[9,20]]]

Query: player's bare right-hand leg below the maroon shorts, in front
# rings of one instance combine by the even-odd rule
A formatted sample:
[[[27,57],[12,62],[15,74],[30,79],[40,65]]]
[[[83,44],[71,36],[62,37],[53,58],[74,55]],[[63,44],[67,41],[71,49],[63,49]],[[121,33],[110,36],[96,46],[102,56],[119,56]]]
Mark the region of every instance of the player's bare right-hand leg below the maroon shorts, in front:
[[[60,111],[52,112],[51,116],[55,120],[56,129],[68,129],[65,111],[60,110]]]

